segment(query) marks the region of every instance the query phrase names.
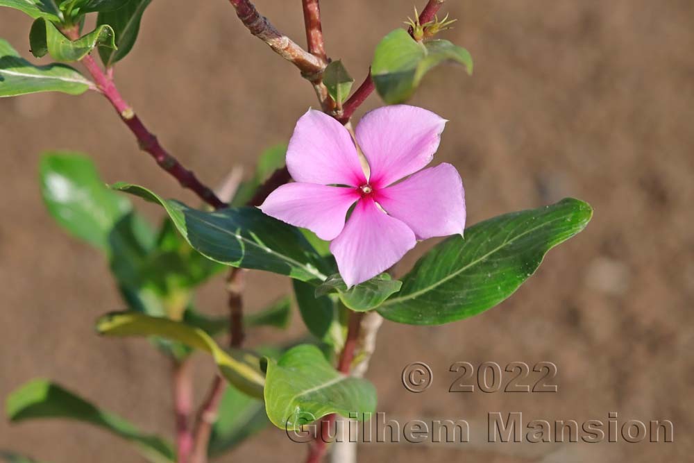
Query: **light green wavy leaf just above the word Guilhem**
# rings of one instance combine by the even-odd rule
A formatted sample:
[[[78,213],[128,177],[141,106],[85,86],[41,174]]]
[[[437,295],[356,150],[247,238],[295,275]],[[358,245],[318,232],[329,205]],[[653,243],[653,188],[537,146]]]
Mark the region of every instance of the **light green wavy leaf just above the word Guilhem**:
[[[363,419],[376,407],[371,382],[339,373],[309,344],[289,349],[278,362],[268,360],[264,396],[270,421],[287,430],[330,413]]]

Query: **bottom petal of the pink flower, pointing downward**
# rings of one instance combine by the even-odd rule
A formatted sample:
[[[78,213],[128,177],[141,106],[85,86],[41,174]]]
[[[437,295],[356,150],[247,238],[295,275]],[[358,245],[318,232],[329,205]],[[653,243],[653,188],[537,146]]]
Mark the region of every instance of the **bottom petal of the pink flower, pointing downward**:
[[[362,199],[330,251],[342,279],[352,287],[391,267],[415,244],[407,225],[379,210],[372,199]]]

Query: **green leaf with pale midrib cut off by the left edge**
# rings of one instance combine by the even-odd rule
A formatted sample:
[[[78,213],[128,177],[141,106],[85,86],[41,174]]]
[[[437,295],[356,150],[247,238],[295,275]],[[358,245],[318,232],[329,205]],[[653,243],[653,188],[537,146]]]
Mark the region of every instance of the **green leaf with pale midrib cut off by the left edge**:
[[[36,92],[83,94],[93,83],[66,65],[35,66],[0,39],[0,97]]]

